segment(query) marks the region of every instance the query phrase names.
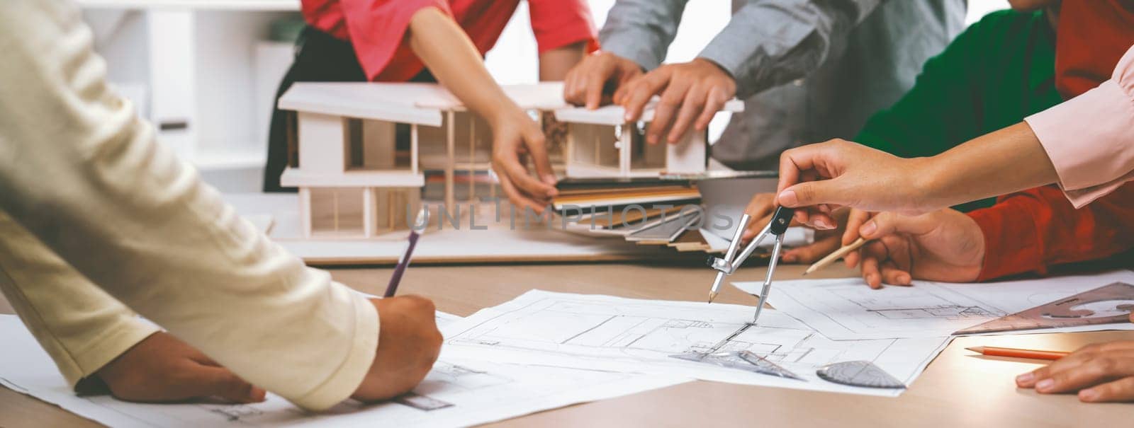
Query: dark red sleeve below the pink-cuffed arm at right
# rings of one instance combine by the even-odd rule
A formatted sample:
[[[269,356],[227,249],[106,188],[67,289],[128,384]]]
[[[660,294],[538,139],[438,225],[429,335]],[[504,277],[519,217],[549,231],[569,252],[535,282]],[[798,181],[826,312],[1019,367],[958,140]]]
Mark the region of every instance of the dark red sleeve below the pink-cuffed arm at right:
[[[1064,263],[1106,258],[1134,247],[1134,183],[1075,209],[1053,186],[997,199],[968,215],[984,233],[978,281]]]

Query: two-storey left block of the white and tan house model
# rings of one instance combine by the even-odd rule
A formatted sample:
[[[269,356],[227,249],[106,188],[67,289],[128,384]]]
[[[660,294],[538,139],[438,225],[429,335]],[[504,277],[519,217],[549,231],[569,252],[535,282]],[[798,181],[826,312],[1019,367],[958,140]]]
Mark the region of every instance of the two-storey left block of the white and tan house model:
[[[297,84],[279,101],[280,109],[296,112],[291,162],[280,183],[299,189],[305,238],[370,238],[406,229],[421,205],[422,129],[441,126],[441,112],[367,102],[387,96],[379,89]],[[408,147],[398,147],[399,134],[408,134]]]

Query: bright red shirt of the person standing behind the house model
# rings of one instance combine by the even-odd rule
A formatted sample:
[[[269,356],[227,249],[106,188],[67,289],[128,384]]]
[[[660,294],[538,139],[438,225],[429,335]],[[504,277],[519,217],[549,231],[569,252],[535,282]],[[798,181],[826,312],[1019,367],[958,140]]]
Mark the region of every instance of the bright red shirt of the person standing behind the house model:
[[[468,34],[481,55],[496,44],[519,0],[303,0],[311,26],[354,44],[366,78],[406,82],[425,66],[405,37],[409,18],[434,7]],[[587,42],[598,48],[591,9],[584,0],[528,0],[540,53]]]

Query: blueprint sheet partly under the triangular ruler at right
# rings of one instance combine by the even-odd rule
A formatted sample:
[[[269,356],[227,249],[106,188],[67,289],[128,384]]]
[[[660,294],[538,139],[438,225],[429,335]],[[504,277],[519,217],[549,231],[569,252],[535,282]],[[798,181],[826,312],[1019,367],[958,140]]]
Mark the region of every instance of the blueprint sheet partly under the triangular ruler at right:
[[[953,284],[914,281],[913,286],[871,290],[862,279],[777,281],[768,303],[833,340],[928,337],[953,334],[1112,282],[1134,284],[1134,272],[1042,280]],[[737,282],[760,293],[759,282]],[[1132,323],[1030,329],[1019,333],[1134,329]],[[1000,332],[988,334],[1014,334]]]

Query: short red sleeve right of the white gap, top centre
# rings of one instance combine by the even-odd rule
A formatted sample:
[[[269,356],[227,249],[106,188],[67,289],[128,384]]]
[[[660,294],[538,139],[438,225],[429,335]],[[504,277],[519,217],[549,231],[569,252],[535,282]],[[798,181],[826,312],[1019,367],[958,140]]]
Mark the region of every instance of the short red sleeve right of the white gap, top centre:
[[[598,33],[585,0],[528,0],[532,33],[540,53],[586,42],[586,51],[599,49]]]

